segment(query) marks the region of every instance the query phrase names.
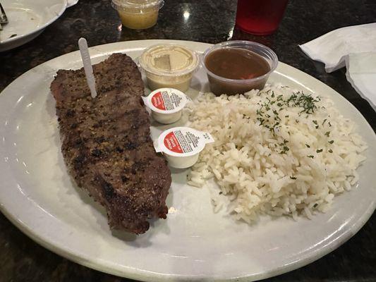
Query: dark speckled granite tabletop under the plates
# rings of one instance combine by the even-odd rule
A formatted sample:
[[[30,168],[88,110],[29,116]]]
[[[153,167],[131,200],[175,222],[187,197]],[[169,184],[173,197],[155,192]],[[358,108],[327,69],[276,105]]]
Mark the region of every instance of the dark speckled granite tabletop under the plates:
[[[78,49],[79,37],[90,46],[135,39],[184,39],[217,43],[248,39],[265,44],[289,63],[341,93],[376,130],[376,114],[345,78],[345,70],[325,73],[298,48],[347,25],[376,22],[375,0],[291,0],[279,30],[255,37],[234,30],[236,0],[165,0],[156,26],[120,28],[109,0],[80,0],[28,44],[0,53],[0,91],[12,80],[56,56]],[[189,18],[183,13],[188,11]],[[373,144],[375,145],[375,144]],[[40,247],[0,214],[0,281],[128,281],[69,262]],[[322,259],[267,281],[376,281],[376,215],[347,243]]]

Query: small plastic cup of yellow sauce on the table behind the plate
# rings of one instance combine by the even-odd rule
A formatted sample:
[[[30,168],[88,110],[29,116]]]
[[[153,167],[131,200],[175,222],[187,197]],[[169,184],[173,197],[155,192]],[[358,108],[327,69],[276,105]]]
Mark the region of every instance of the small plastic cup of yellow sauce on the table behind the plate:
[[[163,0],[112,0],[121,23],[133,30],[143,30],[157,23]]]

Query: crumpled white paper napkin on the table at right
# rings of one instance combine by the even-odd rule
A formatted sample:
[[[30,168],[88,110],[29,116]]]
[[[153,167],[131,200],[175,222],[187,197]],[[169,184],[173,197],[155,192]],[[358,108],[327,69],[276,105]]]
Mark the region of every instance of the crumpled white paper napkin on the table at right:
[[[346,66],[348,82],[376,110],[376,23],[342,27],[299,47],[327,73]]]

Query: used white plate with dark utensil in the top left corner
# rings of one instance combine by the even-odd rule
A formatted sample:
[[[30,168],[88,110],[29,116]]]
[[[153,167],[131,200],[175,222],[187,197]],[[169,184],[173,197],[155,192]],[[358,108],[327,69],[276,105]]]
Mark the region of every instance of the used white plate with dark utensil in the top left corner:
[[[40,35],[68,6],[77,3],[67,1],[1,0],[9,23],[0,30],[0,51],[16,48]]]

